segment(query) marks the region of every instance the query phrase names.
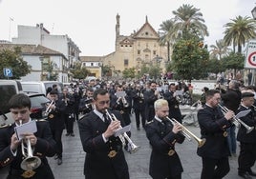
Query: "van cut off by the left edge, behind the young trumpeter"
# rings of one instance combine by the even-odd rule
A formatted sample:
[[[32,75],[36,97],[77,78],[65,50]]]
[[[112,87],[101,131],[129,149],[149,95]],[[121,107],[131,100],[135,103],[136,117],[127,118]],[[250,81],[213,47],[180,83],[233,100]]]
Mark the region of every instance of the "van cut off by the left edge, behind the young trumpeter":
[[[8,103],[12,95],[20,92],[22,92],[22,87],[19,81],[0,80],[0,126],[13,122]]]

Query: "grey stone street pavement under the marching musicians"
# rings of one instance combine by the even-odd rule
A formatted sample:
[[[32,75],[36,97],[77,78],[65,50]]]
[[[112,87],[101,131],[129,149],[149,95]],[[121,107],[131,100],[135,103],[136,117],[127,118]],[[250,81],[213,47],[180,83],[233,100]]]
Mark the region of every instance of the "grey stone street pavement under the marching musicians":
[[[193,126],[185,126],[196,136],[200,136],[200,129]],[[77,123],[75,122],[75,137],[65,136],[63,132],[63,164],[58,166],[53,158],[49,159],[55,179],[84,179],[83,165],[85,152],[79,139]],[[150,146],[143,129],[137,130],[134,116],[132,117],[132,141],[140,146],[139,151],[134,154],[125,152],[126,160],[130,170],[131,179],[150,179],[148,174]],[[202,170],[201,158],[197,155],[197,142],[185,140],[183,144],[177,144],[176,150],[181,157],[183,166],[182,179],[199,179]],[[237,149],[237,153],[239,148]],[[230,171],[224,179],[239,179],[237,175],[237,157],[230,157]],[[0,178],[5,178],[7,169],[0,169]],[[255,167],[253,170],[256,171]],[[100,171],[99,171],[100,172]]]

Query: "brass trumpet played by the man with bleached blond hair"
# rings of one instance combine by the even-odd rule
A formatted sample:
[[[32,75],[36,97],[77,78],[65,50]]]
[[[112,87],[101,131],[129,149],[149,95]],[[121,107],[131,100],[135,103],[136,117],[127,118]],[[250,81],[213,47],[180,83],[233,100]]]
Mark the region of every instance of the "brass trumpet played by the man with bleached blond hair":
[[[197,137],[194,133],[192,133],[190,130],[186,129],[183,125],[181,125],[181,123],[179,123],[179,121],[177,121],[176,119],[172,118],[170,119],[168,116],[165,117],[168,121],[170,121],[173,125],[175,124],[179,124],[182,128],[181,130],[181,134],[184,135],[184,137],[188,140],[191,141],[191,137],[193,137],[197,143],[198,143],[198,147],[201,148],[203,147],[204,143],[206,142],[206,139],[200,139],[199,137]]]

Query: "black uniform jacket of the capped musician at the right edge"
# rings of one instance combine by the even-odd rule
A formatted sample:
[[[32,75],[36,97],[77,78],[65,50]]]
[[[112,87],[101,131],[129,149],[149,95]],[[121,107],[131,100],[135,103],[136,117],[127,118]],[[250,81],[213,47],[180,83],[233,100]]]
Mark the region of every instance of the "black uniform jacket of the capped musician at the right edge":
[[[246,110],[244,106],[241,106],[238,109],[238,112]],[[244,117],[240,118],[247,126],[255,128],[256,120],[254,119],[253,109]],[[243,143],[256,143],[256,130],[253,129],[251,132],[246,133],[246,129],[243,125],[241,125],[240,129],[238,129],[237,140]]]

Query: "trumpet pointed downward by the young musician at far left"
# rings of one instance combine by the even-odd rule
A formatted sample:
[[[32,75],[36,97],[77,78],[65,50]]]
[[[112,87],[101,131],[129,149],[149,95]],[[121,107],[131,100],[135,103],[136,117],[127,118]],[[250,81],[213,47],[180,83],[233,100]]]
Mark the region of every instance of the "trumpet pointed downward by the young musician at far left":
[[[22,121],[20,120],[20,125]],[[21,150],[24,157],[26,157],[20,164],[21,169],[32,171],[37,169],[41,165],[41,159],[37,156],[32,155],[32,145],[30,139],[22,139]],[[25,141],[26,140],[26,141]],[[27,147],[25,147],[24,142],[26,142]],[[27,151],[27,152],[26,152]]]

